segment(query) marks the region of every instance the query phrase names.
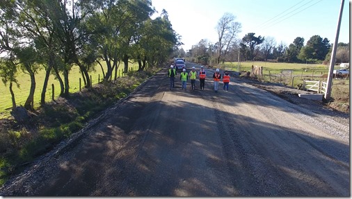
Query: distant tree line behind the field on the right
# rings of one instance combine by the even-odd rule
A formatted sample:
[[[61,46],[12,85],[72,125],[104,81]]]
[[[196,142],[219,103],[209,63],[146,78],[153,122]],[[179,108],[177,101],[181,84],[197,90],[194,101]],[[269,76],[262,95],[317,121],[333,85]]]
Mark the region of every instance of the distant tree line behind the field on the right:
[[[209,64],[210,60],[212,64],[237,60],[330,62],[333,44],[327,38],[313,35],[305,44],[303,37],[296,37],[289,46],[282,42],[277,44],[273,37],[256,36],[255,33],[248,33],[239,39],[237,33],[241,32],[241,24],[234,19],[234,15],[225,13],[216,26],[218,41],[212,44],[200,40],[186,53],[186,57],[203,64]],[[336,62],[349,62],[349,44],[338,44]]]

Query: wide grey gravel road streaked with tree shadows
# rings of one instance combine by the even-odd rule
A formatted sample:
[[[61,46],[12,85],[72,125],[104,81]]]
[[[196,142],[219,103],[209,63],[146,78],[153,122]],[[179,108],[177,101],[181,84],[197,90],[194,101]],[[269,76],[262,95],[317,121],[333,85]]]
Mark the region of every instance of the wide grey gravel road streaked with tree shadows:
[[[350,196],[349,126],[212,74],[184,92],[161,71],[0,196]]]

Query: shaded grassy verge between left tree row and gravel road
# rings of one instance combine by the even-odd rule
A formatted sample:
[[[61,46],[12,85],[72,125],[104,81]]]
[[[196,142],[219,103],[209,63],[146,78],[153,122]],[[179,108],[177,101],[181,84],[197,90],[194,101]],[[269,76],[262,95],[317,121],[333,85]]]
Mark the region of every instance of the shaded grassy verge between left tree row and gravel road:
[[[160,68],[130,71],[111,83],[99,83],[66,98],[58,97],[17,123],[0,120],[0,186],[33,160],[86,126],[91,119],[125,98]]]

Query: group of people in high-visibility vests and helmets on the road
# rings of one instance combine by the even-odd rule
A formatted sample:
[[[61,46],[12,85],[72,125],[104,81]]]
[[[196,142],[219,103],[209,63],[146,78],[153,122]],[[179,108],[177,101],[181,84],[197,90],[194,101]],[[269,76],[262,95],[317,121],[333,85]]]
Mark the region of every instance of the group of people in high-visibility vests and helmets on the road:
[[[174,69],[173,65],[170,66],[168,69],[168,77],[170,78],[170,90],[175,88],[175,78],[177,76],[177,71]],[[186,90],[187,87],[187,80],[191,80],[191,89],[195,90],[195,80],[199,78],[200,81],[200,89],[204,90],[205,87],[205,78],[207,77],[207,71],[203,66],[200,67],[200,71],[197,73],[195,71],[195,67],[192,67],[189,73],[186,72],[186,69],[182,69],[182,73],[179,76],[179,80],[182,83],[182,89]],[[219,69],[216,69],[215,73],[213,74],[214,80],[214,91],[218,92],[218,85],[221,80],[221,73]],[[223,74],[223,90],[228,92],[230,84],[230,74],[228,71],[225,71]]]

